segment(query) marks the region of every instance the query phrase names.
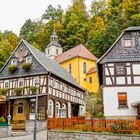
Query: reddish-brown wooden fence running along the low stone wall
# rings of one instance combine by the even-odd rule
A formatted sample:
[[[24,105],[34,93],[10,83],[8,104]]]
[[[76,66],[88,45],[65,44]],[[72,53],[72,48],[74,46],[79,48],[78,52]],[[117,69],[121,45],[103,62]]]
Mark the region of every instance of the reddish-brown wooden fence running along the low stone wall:
[[[49,129],[140,134],[140,120],[86,120],[49,118]]]

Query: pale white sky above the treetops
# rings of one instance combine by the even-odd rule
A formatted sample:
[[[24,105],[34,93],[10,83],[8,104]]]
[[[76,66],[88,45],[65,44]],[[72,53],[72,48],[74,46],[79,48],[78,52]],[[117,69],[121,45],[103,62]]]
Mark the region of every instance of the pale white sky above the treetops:
[[[52,4],[66,10],[72,0],[0,0],[0,31],[13,31],[17,35],[26,19],[37,20]],[[85,0],[89,8],[92,0]]]

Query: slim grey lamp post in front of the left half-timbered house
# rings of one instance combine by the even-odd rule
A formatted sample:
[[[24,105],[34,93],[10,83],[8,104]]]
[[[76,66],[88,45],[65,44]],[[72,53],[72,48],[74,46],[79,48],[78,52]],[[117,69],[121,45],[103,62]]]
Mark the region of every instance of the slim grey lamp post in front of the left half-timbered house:
[[[34,140],[36,140],[36,133],[37,133],[38,94],[39,94],[40,82],[36,82],[35,86],[37,88],[37,91],[36,91],[36,102],[35,102]]]

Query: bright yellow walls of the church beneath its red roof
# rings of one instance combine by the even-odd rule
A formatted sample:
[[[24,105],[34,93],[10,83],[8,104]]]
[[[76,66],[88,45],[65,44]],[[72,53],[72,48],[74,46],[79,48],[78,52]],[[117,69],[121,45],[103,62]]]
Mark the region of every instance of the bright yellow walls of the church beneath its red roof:
[[[74,57],[67,61],[60,63],[60,65],[69,71],[69,65],[71,64],[71,74],[77,83],[80,84],[81,87],[85,88],[89,92],[96,92],[98,91],[98,77],[97,72],[91,74],[94,83],[89,84],[88,76],[86,73],[83,72],[84,63],[86,63],[86,73],[92,68],[96,67],[96,61],[82,58],[82,57]]]

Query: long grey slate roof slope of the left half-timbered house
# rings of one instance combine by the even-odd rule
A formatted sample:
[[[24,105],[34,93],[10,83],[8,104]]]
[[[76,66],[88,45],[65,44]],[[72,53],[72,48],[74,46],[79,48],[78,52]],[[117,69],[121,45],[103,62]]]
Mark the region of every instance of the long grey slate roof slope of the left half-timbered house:
[[[60,77],[61,79],[75,85],[78,88],[81,88],[71,74],[64,68],[62,68],[58,63],[47,57],[43,52],[39,51],[31,44],[27,43],[25,40],[22,40],[27,48],[32,52],[34,57],[38,60],[38,62],[49,72],[54,75]],[[81,88],[82,89],[82,88]]]

